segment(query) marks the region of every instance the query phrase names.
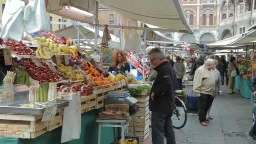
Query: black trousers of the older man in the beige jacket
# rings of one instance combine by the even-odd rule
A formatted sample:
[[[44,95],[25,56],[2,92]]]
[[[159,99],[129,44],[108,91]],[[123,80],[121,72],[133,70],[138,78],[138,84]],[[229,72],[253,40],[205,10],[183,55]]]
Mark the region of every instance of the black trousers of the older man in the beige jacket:
[[[201,93],[198,99],[198,120],[203,122],[206,120],[207,111],[210,107],[211,95]]]

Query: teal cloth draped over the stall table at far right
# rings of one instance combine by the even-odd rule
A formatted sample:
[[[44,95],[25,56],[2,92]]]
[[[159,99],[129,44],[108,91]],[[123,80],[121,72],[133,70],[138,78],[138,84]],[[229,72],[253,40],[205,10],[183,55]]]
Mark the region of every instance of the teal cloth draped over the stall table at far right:
[[[251,99],[251,87],[250,87],[251,80],[244,79],[240,75],[235,77],[235,88],[240,91],[240,94],[246,98]]]

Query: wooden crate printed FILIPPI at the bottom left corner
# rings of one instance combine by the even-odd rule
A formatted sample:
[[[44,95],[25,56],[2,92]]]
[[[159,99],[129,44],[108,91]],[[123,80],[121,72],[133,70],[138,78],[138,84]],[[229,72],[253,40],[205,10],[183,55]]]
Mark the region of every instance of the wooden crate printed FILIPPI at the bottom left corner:
[[[0,136],[34,139],[48,130],[48,122],[41,121],[43,115],[0,114]]]

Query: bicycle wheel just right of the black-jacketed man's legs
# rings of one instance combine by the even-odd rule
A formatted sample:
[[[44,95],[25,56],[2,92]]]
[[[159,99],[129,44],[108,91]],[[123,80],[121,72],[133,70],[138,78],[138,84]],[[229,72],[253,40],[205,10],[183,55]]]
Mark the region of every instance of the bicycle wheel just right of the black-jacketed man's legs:
[[[173,110],[173,116],[171,117],[173,121],[173,127],[176,129],[183,128],[187,123],[187,109],[184,102],[175,97],[175,109]]]

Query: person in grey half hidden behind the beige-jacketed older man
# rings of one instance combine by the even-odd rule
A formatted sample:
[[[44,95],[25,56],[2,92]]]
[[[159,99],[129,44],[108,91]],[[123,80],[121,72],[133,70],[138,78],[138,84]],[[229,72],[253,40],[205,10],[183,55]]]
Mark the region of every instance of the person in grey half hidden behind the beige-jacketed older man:
[[[213,120],[213,118],[210,116],[210,110],[211,110],[211,105],[213,104],[213,99],[217,96],[217,94],[222,94],[222,88],[221,88],[221,75],[218,69],[216,69],[216,65],[218,65],[219,61],[216,59],[214,61],[214,67],[212,69],[213,75],[214,75],[214,80],[215,80],[215,90],[213,91],[210,102],[209,102],[209,108],[206,114],[206,121]]]

